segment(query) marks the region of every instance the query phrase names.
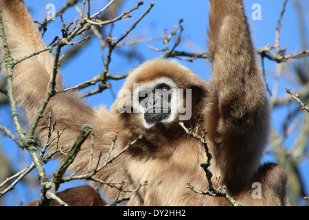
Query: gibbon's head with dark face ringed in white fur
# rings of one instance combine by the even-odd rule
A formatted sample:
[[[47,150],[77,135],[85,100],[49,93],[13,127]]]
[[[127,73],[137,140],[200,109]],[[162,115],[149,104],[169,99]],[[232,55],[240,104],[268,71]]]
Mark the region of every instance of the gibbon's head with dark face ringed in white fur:
[[[144,129],[190,120],[196,100],[192,88],[199,87],[205,87],[205,82],[190,69],[176,61],[157,58],[133,70],[113,109],[124,114],[126,124]]]

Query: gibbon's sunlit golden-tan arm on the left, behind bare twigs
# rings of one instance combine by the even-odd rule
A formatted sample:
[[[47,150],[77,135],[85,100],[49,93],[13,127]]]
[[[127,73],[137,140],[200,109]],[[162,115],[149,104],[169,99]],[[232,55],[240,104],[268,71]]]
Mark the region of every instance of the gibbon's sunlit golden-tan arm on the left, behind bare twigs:
[[[40,33],[34,25],[30,14],[28,14],[23,1],[1,0],[0,8],[9,50],[15,61],[45,48]],[[47,83],[53,71],[53,63],[54,59],[49,56],[49,52],[43,52],[38,56],[22,61],[13,69],[14,94],[17,103],[25,111],[30,122],[32,122],[38,109],[43,104]],[[56,90],[60,89],[62,89],[62,83],[59,73],[56,80]],[[99,115],[97,111],[78,100],[78,94],[74,92],[56,94],[49,101],[44,117],[36,128],[36,134],[38,134],[43,144],[47,140],[50,107],[52,107],[52,123],[56,122],[56,131],[62,131],[64,127],[66,128],[60,136],[58,144],[59,147],[62,146],[64,148],[64,151],[73,146],[73,142],[80,134],[82,124],[90,124],[93,126],[93,133],[95,135],[93,138],[93,166],[97,163],[100,152],[102,152],[102,155],[108,153],[117,131],[115,117],[110,116],[106,109],[101,109]],[[56,137],[56,131],[50,140]],[[71,170],[76,170],[76,168],[80,167],[79,173],[87,171],[90,159],[90,139],[90,137],[87,138],[87,141],[82,145],[80,152],[70,166]],[[54,151],[56,146],[57,141],[54,141],[49,146],[49,152]],[[117,147],[115,146],[116,151]],[[62,157],[62,154],[60,154],[60,157]],[[103,162],[104,159],[106,159],[105,156],[102,159]],[[104,172],[111,179],[115,177],[113,172],[108,173],[106,169],[104,169]],[[100,175],[103,175],[100,177],[102,180],[106,177],[104,172],[100,173]],[[119,179],[123,175],[121,171],[119,173],[120,175],[115,179],[125,181],[125,175],[124,179]]]

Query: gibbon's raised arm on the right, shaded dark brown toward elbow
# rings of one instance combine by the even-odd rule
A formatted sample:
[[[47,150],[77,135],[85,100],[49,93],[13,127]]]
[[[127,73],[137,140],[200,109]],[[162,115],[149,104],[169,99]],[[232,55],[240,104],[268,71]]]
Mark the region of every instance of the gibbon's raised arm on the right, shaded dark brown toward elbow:
[[[260,163],[267,141],[268,101],[242,1],[209,2],[213,91],[206,129],[221,178],[237,193]]]

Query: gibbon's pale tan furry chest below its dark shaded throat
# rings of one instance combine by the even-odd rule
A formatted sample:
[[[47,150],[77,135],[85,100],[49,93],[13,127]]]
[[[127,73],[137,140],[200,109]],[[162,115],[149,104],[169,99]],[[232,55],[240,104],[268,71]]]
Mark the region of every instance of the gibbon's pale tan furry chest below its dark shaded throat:
[[[135,159],[128,163],[128,174],[135,187],[144,184],[139,189],[139,196],[146,206],[183,205],[183,199],[196,194],[187,188],[191,182],[198,188],[207,188],[205,171],[201,163],[206,162],[205,150],[199,145],[188,142],[176,146],[172,155],[167,157],[150,157]],[[197,204],[202,205],[202,204]]]

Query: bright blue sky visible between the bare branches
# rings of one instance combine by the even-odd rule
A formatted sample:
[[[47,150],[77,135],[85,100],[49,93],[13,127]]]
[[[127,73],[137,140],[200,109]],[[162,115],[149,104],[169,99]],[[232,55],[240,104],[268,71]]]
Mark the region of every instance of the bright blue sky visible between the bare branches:
[[[96,10],[102,8],[104,3],[107,1],[93,1],[91,8],[92,12],[96,12]],[[126,1],[124,3],[121,11],[130,10],[135,5],[137,5],[139,1]],[[141,14],[144,13],[146,8],[150,5],[151,1],[144,1],[144,5],[141,5],[139,10],[131,13],[132,18],[123,19],[115,23],[115,27],[113,28],[113,36],[119,37],[130,28],[136,19],[139,18]],[[245,1],[245,9],[247,13],[247,17],[249,18],[249,24],[251,26],[251,32],[253,37],[253,42],[255,47],[264,47],[265,45],[273,45],[275,42],[275,27],[277,25],[277,20],[279,19],[279,14],[282,10],[283,0],[246,0]],[[62,6],[65,1],[34,1],[34,0],[25,0],[25,3],[29,10],[32,12],[32,17],[38,21],[43,21],[45,18],[45,6],[47,3],[54,3],[56,5],[56,11]],[[261,20],[254,21],[251,19],[251,14],[254,10],[251,8],[253,4],[259,3],[262,9],[262,17]],[[300,3],[303,7],[303,12],[308,12],[309,9],[309,1],[300,0]],[[206,30],[208,27],[208,1],[205,0],[195,0],[195,1],[185,1],[185,0],[158,0],[155,1],[155,7],[152,8],[150,13],[137,25],[137,28],[130,33],[130,35],[125,39],[125,41],[130,41],[135,38],[149,38],[153,36],[163,36],[163,30],[167,29],[168,32],[172,31],[174,25],[179,23],[179,19],[183,19],[183,28],[184,32],[182,34],[183,41],[181,41],[181,45],[177,47],[177,50],[185,50],[187,52],[205,52],[207,51],[207,47],[205,45],[206,39]],[[78,17],[78,13],[70,9],[63,15],[65,21],[69,23],[72,19]],[[309,17],[304,18],[306,24],[309,23]],[[282,47],[285,47],[288,54],[290,52],[299,52],[301,51],[301,43],[299,40],[299,26],[296,17],[296,10],[293,4],[293,1],[288,1],[286,5],[286,13],[284,14],[284,19],[282,21],[282,30],[280,32],[280,41],[279,44]],[[45,43],[49,43],[54,39],[55,35],[61,36],[60,28],[61,23],[57,19],[56,21],[52,21],[50,24],[47,33],[45,34],[44,41]],[[308,34],[308,25],[306,26],[306,33]],[[307,39],[308,40],[308,39]],[[115,50],[113,54],[113,60],[110,65],[110,72],[113,74],[123,74],[128,72],[132,67],[139,65],[142,61],[146,61],[151,58],[155,58],[156,56],[161,55],[160,52],[154,52],[150,50],[148,45],[152,45],[153,47],[163,48],[164,45],[162,41],[152,41],[149,43],[141,43],[136,45],[136,50],[139,52],[139,59],[131,59],[126,60],[123,58],[124,52],[130,50],[132,47],[121,47],[119,50]],[[68,46],[69,47],[69,46]],[[307,48],[308,49],[308,48]],[[62,51],[62,52],[65,52]],[[105,51],[106,52],[106,51]],[[91,43],[84,49],[82,54],[78,54],[75,56],[73,61],[69,61],[62,65],[62,76],[66,85],[78,85],[79,83],[84,82],[90,78],[93,78],[96,74],[102,72],[103,63],[101,58],[101,50],[100,50],[100,42],[98,39],[93,38]],[[294,61],[292,61],[294,62]],[[193,63],[189,63],[187,61],[181,61],[185,66],[192,69],[198,76],[202,78],[209,78],[210,76],[210,65],[208,61],[205,60],[196,60]],[[273,87],[273,78],[275,75],[276,64],[272,61],[265,61],[266,67],[266,80],[268,86],[270,88]],[[124,80],[112,81],[112,91],[117,95],[117,91],[122,87]],[[280,78],[279,81],[279,89],[278,95],[286,94],[286,87],[291,87],[291,89],[297,89],[296,85],[291,84],[283,77]],[[91,87],[89,89],[94,89],[95,87]],[[89,90],[88,89],[88,90]],[[88,91],[86,90],[86,91]],[[100,104],[104,104],[109,107],[113,103],[113,96],[111,94],[111,90],[106,90],[102,94],[97,94],[95,96],[91,96],[89,98],[89,104],[96,107]],[[12,125],[10,120],[6,120],[10,118],[10,112],[8,109],[0,109],[1,111],[1,124],[6,126]],[[273,126],[282,131],[282,123],[285,119],[282,117],[283,114],[286,113],[286,108],[275,109],[273,113]],[[292,136],[295,137],[295,136]],[[286,146],[291,146],[293,143],[291,142],[293,138],[290,138],[285,142]],[[8,139],[4,138],[3,142],[7,143]],[[8,144],[3,144],[8,146]],[[5,148],[5,153],[10,155],[10,158],[18,157],[19,153],[16,153],[15,146],[10,146],[10,148]],[[14,151],[14,153],[12,153]],[[271,155],[267,155],[267,160],[273,159]],[[25,166],[27,166],[28,162],[24,162]],[[302,176],[306,181],[306,192],[309,194],[309,174],[308,174],[308,159],[304,160],[303,166],[301,166]],[[53,165],[50,170],[53,169]],[[23,166],[24,167],[24,166]],[[35,174],[34,174],[35,175]],[[24,192],[23,188],[16,188],[16,191]],[[39,190],[37,190],[39,192]],[[29,193],[30,194],[30,193]],[[8,205],[16,205],[17,201],[22,199],[23,197],[38,197],[36,195],[14,195],[14,198],[7,197]]]

